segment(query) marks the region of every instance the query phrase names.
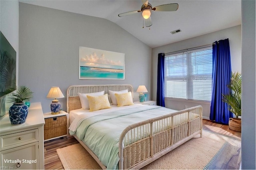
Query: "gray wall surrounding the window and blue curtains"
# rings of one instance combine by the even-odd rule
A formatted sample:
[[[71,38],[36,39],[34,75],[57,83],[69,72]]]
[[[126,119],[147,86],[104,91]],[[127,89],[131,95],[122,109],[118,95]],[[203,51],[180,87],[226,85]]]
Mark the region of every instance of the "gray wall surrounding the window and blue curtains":
[[[182,32],[181,32],[182,33]],[[178,34],[175,34],[178,36]],[[218,40],[224,40],[229,38],[230,40],[230,55],[232,71],[241,72],[241,25],[212,32],[202,36],[190,38],[176,43],[170,43],[152,49],[152,99],[156,100],[157,89],[157,62],[158,53],[168,53],[172,51],[178,51],[182,49],[188,49],[198,47],[201,45],[207,45]],[[210,116],[210,102],[198,102],[192,100],[183,99],[165,99],[165,106],[171,109],[182,110],[184,106],[193,107],[196,105],[202,105],[203,118],[209,119]]]

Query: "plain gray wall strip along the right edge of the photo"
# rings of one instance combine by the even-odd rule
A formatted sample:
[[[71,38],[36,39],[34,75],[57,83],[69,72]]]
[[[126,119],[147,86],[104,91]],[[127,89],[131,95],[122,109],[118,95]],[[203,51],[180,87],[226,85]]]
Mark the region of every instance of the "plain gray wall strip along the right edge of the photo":
[[[242,0],[242,169],[255,165],[255,0]]]

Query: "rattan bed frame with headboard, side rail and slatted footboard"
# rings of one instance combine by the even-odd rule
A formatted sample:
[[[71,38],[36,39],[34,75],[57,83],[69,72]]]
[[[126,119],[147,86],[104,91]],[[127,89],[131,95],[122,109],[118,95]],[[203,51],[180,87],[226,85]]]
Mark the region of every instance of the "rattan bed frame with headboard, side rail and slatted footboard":
[[[70,86],[67,90],[67,112],[81,108],[78,92],[94,93],[104,90],[105,93],[108,93],[108,90],[120,91],[125,89],[131,91],[133,97],[131,85]],[[188,108],[130,125],[124,129],[120,136],[119,169],[142,168],[197,134],[202,137],[202,106]],[[98,157],[81,140],[79,142],[100,166],[106,169]]]

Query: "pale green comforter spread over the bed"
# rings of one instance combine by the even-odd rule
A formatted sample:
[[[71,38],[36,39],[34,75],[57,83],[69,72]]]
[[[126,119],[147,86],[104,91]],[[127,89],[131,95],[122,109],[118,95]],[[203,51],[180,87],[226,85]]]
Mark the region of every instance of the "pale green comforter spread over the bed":
[[[84,119],[76,131],[82,140],[107,169],[118,168],[118,143],[122,131],[134,123],[173,113],[175,110],[159,106],[141,105],[128,107],[121,111],[113,111]]]

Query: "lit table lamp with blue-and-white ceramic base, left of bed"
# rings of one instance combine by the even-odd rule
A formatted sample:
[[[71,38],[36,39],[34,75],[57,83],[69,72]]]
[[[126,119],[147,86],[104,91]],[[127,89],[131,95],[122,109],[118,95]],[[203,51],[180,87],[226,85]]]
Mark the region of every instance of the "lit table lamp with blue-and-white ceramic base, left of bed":
[[[58,98],[63,98],[63,97],[64,97],[64,95],[60,91],[59,87],[51,87],[51,89],[50,89],[48,95],[46,96],[46,98],[54,99],[52,101],[51,105],[50,105],[51,111],[52,111],[52,115],[59,114],[60,102],[57,99]]]

